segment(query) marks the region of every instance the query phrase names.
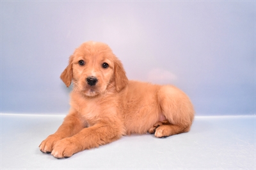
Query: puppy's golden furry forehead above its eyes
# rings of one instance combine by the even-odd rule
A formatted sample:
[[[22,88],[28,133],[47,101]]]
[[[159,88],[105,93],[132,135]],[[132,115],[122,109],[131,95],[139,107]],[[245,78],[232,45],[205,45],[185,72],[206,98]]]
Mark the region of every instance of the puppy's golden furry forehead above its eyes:
[[[78,47],[74,55],[85,59],[113,60],[114,55],[108,45],[104,43],[83,43]]]

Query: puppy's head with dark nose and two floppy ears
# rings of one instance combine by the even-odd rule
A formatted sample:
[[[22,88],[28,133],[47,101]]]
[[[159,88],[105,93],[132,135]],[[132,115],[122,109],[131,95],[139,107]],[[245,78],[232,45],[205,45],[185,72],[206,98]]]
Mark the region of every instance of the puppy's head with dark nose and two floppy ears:
[[[122,90],[128,83],[122,63],[105,43],[86,42],[70,56],[61,80],[86,97]]]

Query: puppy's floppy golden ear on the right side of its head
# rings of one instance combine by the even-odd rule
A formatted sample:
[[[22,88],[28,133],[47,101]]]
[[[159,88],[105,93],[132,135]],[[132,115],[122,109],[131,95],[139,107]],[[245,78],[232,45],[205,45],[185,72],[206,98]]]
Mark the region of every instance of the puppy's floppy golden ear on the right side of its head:
[[[119,92],[128,84],[128,79],[125,75],[124,66],[119,59],[116,59],[115,61],[114,75],[116,90]]]

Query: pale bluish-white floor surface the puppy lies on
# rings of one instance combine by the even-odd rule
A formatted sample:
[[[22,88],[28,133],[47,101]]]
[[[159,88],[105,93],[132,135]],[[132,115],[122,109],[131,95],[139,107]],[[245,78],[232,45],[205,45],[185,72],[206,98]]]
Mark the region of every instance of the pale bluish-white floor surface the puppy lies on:
[[[64,116],[1,114],[1,169],[255,169],[255,116],[196,117],[191,131],[130,135],[70,158],[38,145]]]

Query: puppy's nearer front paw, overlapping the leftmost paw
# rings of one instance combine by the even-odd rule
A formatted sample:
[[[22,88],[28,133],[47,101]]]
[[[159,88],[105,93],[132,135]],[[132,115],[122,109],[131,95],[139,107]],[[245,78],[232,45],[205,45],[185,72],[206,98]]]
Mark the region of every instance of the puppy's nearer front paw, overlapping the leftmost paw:
[[[78,151],[80,151],[79,145],[77,145],[76,141],[73,141],[71,137],[68,137],[58,141],[54,145],[51,154],[56,158],[68,158]]]

